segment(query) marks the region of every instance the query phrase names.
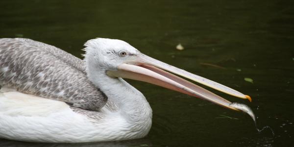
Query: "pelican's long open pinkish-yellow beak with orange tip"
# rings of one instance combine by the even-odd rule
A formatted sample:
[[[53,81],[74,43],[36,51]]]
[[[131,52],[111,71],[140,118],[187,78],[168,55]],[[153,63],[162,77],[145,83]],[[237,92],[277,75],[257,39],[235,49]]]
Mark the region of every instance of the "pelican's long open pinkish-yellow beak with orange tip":
[[[138,53],[134,55],[134,59],[132,59],[132,61],[119,65],[117,71],[107,71],[107,74],[112,77],[122,77],[148,82],[193,97],[202,98],[232,110],[238,110],[230,106],[232,102],[172,73],[209,86],[223,93],[251,101],[249,96],[246,96],[236,90],[196,74],[178,69],[164,62],[153,59],[143,53]]]

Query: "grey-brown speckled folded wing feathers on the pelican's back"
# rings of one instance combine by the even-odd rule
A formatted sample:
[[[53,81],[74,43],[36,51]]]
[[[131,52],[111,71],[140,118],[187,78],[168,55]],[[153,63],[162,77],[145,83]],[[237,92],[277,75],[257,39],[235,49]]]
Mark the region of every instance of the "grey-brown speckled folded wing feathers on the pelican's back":
[[[87,78],[84,61],[41,42],[0,39],[0,86],[99,110],[107,97]]]

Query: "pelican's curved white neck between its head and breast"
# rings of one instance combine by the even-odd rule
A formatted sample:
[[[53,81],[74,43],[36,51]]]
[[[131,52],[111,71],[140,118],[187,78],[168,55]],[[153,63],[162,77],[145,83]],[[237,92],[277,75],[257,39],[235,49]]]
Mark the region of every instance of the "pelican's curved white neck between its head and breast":
[[[87,62],[87,74],[90,80],[119,108],[119,112],[128,120],[138,122],[152,117],[152,110],[144,95],[122,78],[111,78],[106,70]]]

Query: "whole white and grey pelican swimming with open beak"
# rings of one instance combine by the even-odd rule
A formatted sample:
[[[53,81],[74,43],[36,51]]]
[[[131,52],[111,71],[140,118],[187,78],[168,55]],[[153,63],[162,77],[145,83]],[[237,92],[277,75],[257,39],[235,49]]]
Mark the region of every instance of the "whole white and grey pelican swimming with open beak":
[[[30,39],[0,39],[0,138],[81,143],[145,137],[152,109],[144,95],[123,78],[237,111],[232,102],[174,74],[251,100],[217,82],[153,59],[122,40],[92,39],[84,50],[81,60]]]

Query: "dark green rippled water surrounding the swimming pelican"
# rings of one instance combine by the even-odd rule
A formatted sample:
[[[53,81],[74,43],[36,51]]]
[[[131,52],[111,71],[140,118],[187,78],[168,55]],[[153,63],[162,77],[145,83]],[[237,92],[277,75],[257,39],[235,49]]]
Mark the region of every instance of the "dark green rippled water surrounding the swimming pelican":
[[[153,109],[146,138],[77,145],[0,140],[2,146],[294,146],[293,0],[1,0],[4,37],[34,39],[80,58],[89,39],[124,40],[151,57],[250,95],[251,103],[209,89],[250,106],[258,127],[269,125],[274,136],[269,129],[258,133],[243,113],[129,81]],[[185,49],[175,49],[178,43]]]

